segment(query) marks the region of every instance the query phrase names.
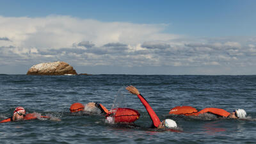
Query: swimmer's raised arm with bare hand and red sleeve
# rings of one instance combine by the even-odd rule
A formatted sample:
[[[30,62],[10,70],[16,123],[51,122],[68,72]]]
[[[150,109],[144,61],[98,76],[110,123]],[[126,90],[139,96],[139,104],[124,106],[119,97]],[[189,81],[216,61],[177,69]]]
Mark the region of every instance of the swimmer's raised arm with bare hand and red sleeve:
[[[134,86],[127,86],[126,90],[128,90],[130,93],[138,96],[138,98],[140,99],[142,104],[147,109],[148,115],[150,116],[150,118],[151,118],[151,120],[152,120],[152,122],[154,124],[154,127],[158,127],[159,124],[161,123],[159,118],[158,118],[158,116],[156,115],[154,110],[151,108],[151,106],[148,104],[147,100],[140,94],[138,89],[135,88]]]

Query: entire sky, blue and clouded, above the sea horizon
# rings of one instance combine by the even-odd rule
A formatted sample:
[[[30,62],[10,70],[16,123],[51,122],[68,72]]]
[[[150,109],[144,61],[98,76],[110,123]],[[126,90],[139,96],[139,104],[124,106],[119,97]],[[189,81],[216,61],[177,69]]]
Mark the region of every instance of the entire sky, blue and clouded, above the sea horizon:
[[[256,1],[0,1],[0,74],[256,74]]]

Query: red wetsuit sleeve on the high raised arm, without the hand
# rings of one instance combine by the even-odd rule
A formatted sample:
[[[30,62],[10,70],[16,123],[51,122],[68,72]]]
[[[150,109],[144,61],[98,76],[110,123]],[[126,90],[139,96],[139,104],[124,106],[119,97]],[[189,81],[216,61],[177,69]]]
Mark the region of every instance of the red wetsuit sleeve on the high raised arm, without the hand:
[[[156,115],[155,111],[151,108],[151,106],[148,104],[147,100],[141,95],[137,95],[142,104],[145,106],[145,108],[148,111],[148,115],[150,116],[154,127],[158,127],[158,125],[161,123],[158,116]]]

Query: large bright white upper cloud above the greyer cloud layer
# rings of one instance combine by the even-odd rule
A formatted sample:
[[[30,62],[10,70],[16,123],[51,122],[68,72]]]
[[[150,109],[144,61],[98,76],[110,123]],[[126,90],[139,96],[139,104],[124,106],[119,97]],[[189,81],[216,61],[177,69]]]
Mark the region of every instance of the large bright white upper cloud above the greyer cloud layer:
[[[74,42],[90,41],[96,45],[122,42],[138,44],[145,40],[170,40],[175,35],[163,34],[163,25],[100,22],[68,16],[0,17],[0,37],[9,38],[15,46],[60,48]]]

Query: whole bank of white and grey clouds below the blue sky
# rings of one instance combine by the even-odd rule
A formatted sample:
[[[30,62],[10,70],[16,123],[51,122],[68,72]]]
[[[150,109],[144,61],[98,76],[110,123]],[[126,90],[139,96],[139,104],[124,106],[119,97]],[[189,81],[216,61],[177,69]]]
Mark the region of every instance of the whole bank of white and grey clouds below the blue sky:
[[[0,65],[67,61],[77,66],[251,67],[256,38],[194,38],[163,24],[70,16],[1,17]],[[0,72],[1,73],[1,72]]]

